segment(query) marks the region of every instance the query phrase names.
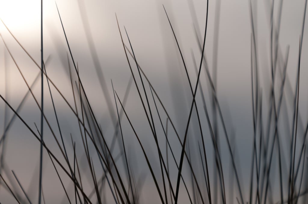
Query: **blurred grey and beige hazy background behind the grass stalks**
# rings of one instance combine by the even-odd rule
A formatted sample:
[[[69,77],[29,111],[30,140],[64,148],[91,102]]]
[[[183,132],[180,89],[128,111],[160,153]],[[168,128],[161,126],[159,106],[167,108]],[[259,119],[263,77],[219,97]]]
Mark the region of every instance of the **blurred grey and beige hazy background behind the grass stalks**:
[[[59,12],[63,21],[63,25],[67,34],[68,41],[71,46],[71,51],[75,61],[78,62],[81,80],[87,92],[92,107],[94,108],[95,115],[99,119],[105,137],[110,142],[113,134],[110,116],[106,105],[106,100],[103,97],[102,90],[99,86],[99,79],[94,69],[91,53],[89,50],[85,30],[83,27],[79,4],[84,8],[88,17],[88,29],[91,30],[91,36],[95,43],[95,49],[98,53],[99,62],[102,67],[103,75],[107,83],[107,89],[112,99],[113,111],[115,111],[115,104],[112,95],[112,87],[110,80],[112,79],[114,88],[123,99],[124,93],[131,76],[128,63],[125,57],[124,49],[122,46],[120,33],[116,24],[115,13],[117,14],[120,29],[124,37],[124,43],[128,45],[124,27],[127,29],[130,37],[136,59],[140,67],[144,70],[147,77],[151,81],[156,92],[162,99],[164,106],[167,108],[173,121],[176,123],[177,131],[180,136],[184,136],[184,131],[187,123],[189,106],[191,103],[191,92],[188,86],[185,70],[180,60],[179,52],[176,48],[175,40],[172,35],[168,19],[164,13],[162,4],[164,4],[172,26],[175,29],[176,36],[184,54],[184,59],[188,68],[189,75],[192,80],[193,87],[196,84],[196,74],[193,68],[193,60],[191,57],[191,50],[193,50],[197,64],[200,61],[201,53],[198,48],[194,33],[194,23],[196,19],[200,27],[201,33],[198,33],[203,39],[205,28],[205,15],[206,15],[206,1],[191,1],[191,0],[166,0],[166,1],[97,1],[97,0],[62,0],[56,1]],[[275,2],[274,7],[274,22],[277,23],[278,2]],[[192,4],[193,3],[193,4]],[[263,101],[268,104],[270,96],[270,1],[253,1],[253,17],[256,26],[257,34],[257,56],[259,63],[259,77],[260,86],[262,87]],[[205,54],[209,70],[212,73],[213,65],[213,50],[214,50],[214,16],[215,16],[216,1],[209,1],[209,18],[208,29],[205,42]],[[302,29],[302,19],[304,13],[304,0],[298,1],[283,1],[281,28],[279,36],[280,49],[282,50],[283,57],[286,53],[287,45],[290,45],[290,55],[287,67],[287,75],[289,77],[289,92],[292,88],[295,89],[295,79],[298,65],[298,46],[299,37]],[[193,7],[193,9],[192,9]],[[193,14],[193,15],[192,15]],[[195,15],[195,17],[194,17]],[[6,23],[11,32],[15,35],[18,41],[25,47],[36,62],[40,62],[40,1],[29,0],[0,0],[0,18]],[[226,1],[221,0],[220,5],[220,18],[219,18],[219,35],[217,47],[217,94],[220,101],[227,128],[235,135],[235,144],[237,147],[237,164],[241,171],[241,182],[244,190],[244,197],[248,199],[249,195],[249,178],[250,178],[250,163],[252,153],[252,139],[253,139],[253,123],[252,123],[252,107],[251,107],[251,67],[250,67],[250,38],[251,38],[251,20],[249,16],[249,3],[248,1]],[[307,64],[308,59],[308,44],[306,41],[306,34],[308,32],[307,26],[304,29],[303,46],[302,46],[302,59],[301,59],[301,74],[300,74],[300,97],[299,109],[301,117],[306,125],[307,121],[307,82],[308,77]],[[16,43],[14,38],[6,30],[3,24],[0,24],[0,33],[5,40],[10,52],[12,53],[16,63],[22,70],[27,82],[31,84],[39,69],[24,53],[20,46]],[[57,85],[64,96],[67,97],[71,105],[74,104],[73,95],[71,92],[71,84],[68,75],[68,62],[67,52],[68,48],[65,42],[63,30],[57,13],[54,1],[43,1],[43,38],[44,38],[44,59],[50,56],[50,61],[46,65],[47,74]],[[131,57],[132,68],[137,76],[136,65],[133,63]],[[72,61],[70,59],[72,65]],[[40,64],[40,63],[39,63]],[[5,67],[8,70],[5,73]],[[277,75],[280,80],[280,75]],[[139,79],[139,77],[137,77]],[[205,69],[201,71],[201,84],[205,91],[205,96],[209,97],[208,82],[205,77]],[[140,81],[140,80],[138,80]],[[280,83],[280,82],[279,82]],[[7,84],[7,86],[5,85]],[[38,81],[34,86],[34,95],[40,101],[40,82]],[[140,83],[141,85],[141,83]],[[150,89],[146,84],[148,96],[150,96]],[[5,89],[7,92],[5,93]],[[5,96],[13,108],[16,108],[22,97],[27,92],[28,88],[22,80],[16,65],[12,58],[6,51],[3,42],[0,43],[0,94]],[[288,90],[286,85],[286,90]],[[77,128],[77,120],[74,118],[71,110],[60,98],[59,94],[52,87],[51,91],[55,100],[60,125],[64,135],[65,143],[69,147],[69,155],[72,155],[70,133],[76,141],[76,148],[80,148],[82,152],[82,143],[80,140],[79,129]],[[286,97],[290,95],[286,94]],[[210,98],[206,98],[207,103],[211,103]],[[152,101],[152,98],[151,98]],[[288,107],[290,121],[292,120],[292,103],[293,99],[283,102],[283,107]],[[157,100],[156,100],[157,102]],[[153,105],[153,103],[151,102]],[[199,109],[203,111],[201,96],[197,92],[197,104]],[[118,104],[119,105],[119,104]],[[132,85],[129,93],[126,110],[134,128],[142,137],[142,141],[147,147],[147,151],[152,155],[153,163],[158,164],[157,151],[154,145],[153,137],[150,133],[145,114],[141,109],[141,102],[135,85]],[[153,106],[154,108],[154,106]],[[166,116],[163,114],[162,108],[160,114],[165,122]],[[268,106],[263,107],[264,117],[267,120]],[[0,132],[2,134],[4,124],[5,104],[0,102]],[[55,134],[59,137],[55,115],[53,112],[50,94],[47,86],[47,81],[44,81],[44,112],[49,119],[51,126],[55,129]],[[154,109],[153,109],[153,112]],[[211,114],[211,112],[210,112]],[[282,113],[281,117],[286,116]],[[34,122],[40,124],[40,111],[32,96],[28,96],[20,115],[26,120],[33,130],[35,129]],[[13,113],[9,111],[9,118]],[[195,116],[195,115],[194,115]],[[196,143],[192,143],[195,147],[193,151],[198,156],[197,139],[199,131],[197,128],[197,119],[193,116],[190,131],[193,138],[196,138]],[[157,127],[159,121],[155,112]],[[283,144],[286,146],[287,138],[290,137],[283,124],[286,119],[282,119],[281,134],[285,137]],[[205,134],[207,154],[209,163],[213,164],[213,147],[209,136],[208,125],[206,122],[205,114],[202,112],[201,121],[203,121],[203,129]],[[155,186],[152,184],[152,178],[149,174],[148,167],[145,166],[144,156],[141,153],[139,144],[133,135],[125,116],[123,117],[124,140],[127,142],[126,147],[129,148],[132,163],[135,165],[135,173],[138,176],[146,175],[141,198],[144,203],[159,202],[158,194],[152,193]],[[161,138],[161,145],[164,144],[164,135],[161,128],[159,129],[159,139]],[[193,132],[196,129],[197,131]],[[302,134],[303,130],[299,130]],[[222,133],[222,131],[220,130]],[[46,124],[44,126],[44,140],[55,155],[61,158],[61,154],[57,151],[58,147],[55,146],[55,140],[52,138],[50,131]],[[169,129],[169,138],[172,143],[174,151],[177,152],[177,159],[180,158],[180,146],[175,137],[174,132]],[[110,136],[109,136],[110,135]],[[60,138],[60,137],[59,137]],[[302,136],[300,137],[302,138]],[[283,140],[283,139],[282,139]],[[229,152],[226,148],[225,136],[221,134],[221,154],[223,159],[223,167],[226,174],[229,173],[230,158]],[[289,146],[286,146],[289,147]],[[1,147],[2,148],[2,147]],[[119,152],[117,148],[115,150]],[[151,153],[152,152],[152,153]],[[165,152],[165,151],[164,151]],[[163,153],[164,154],[164,153]],[[78,155],[82,157],[82,153]],[[99,165],[98,158],[93,152],[93,159]],[[72,157],[73,158],[73,157]],[[79,158],[79,159],[80,159]],[[58,181],[57,175],[52,167],[50,159],[44,151],[44,173],[43,173],[43,190],[45,198],[48,203],[66,203],[63,199],[63,189]],[[277,156],[274,158],[274,164],[277,164]],[[62,159],[62,161],[64,161]],[[194,160],[193,160],[194,161]],[[288,161],[288,159],[286,160]],[[19,121],[16,120],[10,129],[6,140],[6,167],[14,170],[21,183],[24,185],[29,196],[36,202],[37,189],[38,189],[38,175],[39,175],[39,142],[30,134],[30,131]],[[95,163],[96,163],[95,162]],[[202,176],[200,164],[196,159],[193,164],[199,167],[197,174]],[[87,165],[86,163],[84,165]],[[119,164],[122,166],[122,163]],[[157,165],[158,166],[158,165]],[[277,166],[277,165],[276,165]],[[287,166],[287,165],[286,165]],[[174,164],[171,165],[174,170],[173,179],[176,179],[177,171]],[[183,168],[184,172],[187,170],[187,165]],[[209,168],[211,175],[213,175],[213,167]],[[99,170],[100,171],[100,170]],[[160,173],[159,168],[156,169]],[[84,177],[87,178],[85,170]],[[63,173],[63,172],[62,172]],[[61,173],[61,174],[62,174]],[[7,173],[5,173],[7,174]],[[68,180],[62,174],[66,185],[69,185]],[[99,172],[97,172],[99,175]],[[37,179],[32,180],[32,177]],[[210,178],[211,179],[211,178]],[[90,186],[91,183],[85,184]],[[14,180],[13,180],[14,181]],[[176,181],[176,180],[175,180]],[[278,180],[276,180],[278,181]],[[226,181],[228,183],[228,181]],[[272,184],[275,186],[275,182]],[[278,185],[278,182],[277,182]],[[32,187],[31,187],[32,186]],[[182,186],[183,187],[183,186]],[[203,186],[205,187],[205,185]],[[74,188],[70,187],[71,193]],[[274,187],[273,187],[274,188]],[[183,190],[184,188],[180,189]],[[154,190],[155,191],[155,190]],[[155,191],[156,192],[156,191]],[[235,190],[237,195],[237,191]],[[276,197],[279,191],[273,191],[273,197]],[[181,195],[181,194],[180,194]],[[181,203],[188,202],[186,194],[181,195]],[[227,195],[228,196],[228,195]],[[0,187],[0,202],[13,203],[14,200],[6,190]],[[109,199],[109,198],[108,198]],[[111,199],[111,197],[110,197]],[[228,199],[227,199],[228,200]],[[110,200],[112,201],[112,200]]]

